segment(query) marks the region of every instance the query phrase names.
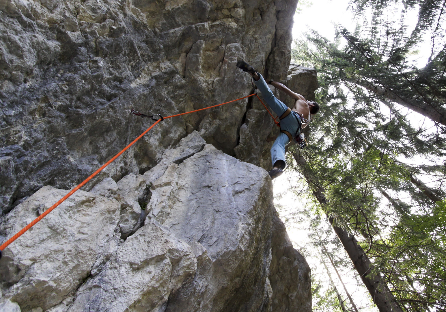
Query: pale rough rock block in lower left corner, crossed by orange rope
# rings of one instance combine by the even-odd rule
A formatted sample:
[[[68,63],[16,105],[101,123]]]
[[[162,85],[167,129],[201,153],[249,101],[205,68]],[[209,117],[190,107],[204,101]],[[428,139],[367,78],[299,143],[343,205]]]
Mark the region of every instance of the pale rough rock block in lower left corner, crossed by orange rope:
[[[67,191],[42,187],[16,209],[1,225],[11,237],[50,208]],[[76,291],[90,275],[98,254],[115,242],[120,205],[116,200],[77,191],[4,250],[0,275],[3,295],[23,311],[46,310]]]

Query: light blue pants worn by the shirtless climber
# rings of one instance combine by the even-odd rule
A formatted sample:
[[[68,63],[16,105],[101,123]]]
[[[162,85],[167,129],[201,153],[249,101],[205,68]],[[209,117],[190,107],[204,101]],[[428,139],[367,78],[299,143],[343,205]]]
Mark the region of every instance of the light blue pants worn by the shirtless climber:
[[[266,84],[262,75],[258,75],[260,76],[260,79],[254,81],[254,83],[259,88],[260,92],[262,92],[262,96],[266,103],[268,103],[269,107],[271,107],[277,116],[282,116],[282,114],[287,110],[288,106],[277,100],[277,98],[273,95],[273,92],[271,92],[271,89]],[[280,121],[281,129],[288,131],[291,133],[291,135],[294,135],[297,132],[297,129],[299,129],[301,126],[299,121],[297,121],[297,118],[299,121],[301,120],[297,112],[291,111],[288,116]],[[289,138],[285,133],[280,133],[276,141],[274,141],[273,147],[271,147],[273,166],[278,160],[283,160],[281,167],[282,169],[285,169],[285,146],[288,144],[288,142]]]

